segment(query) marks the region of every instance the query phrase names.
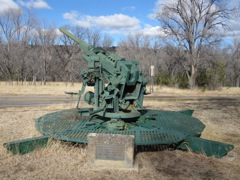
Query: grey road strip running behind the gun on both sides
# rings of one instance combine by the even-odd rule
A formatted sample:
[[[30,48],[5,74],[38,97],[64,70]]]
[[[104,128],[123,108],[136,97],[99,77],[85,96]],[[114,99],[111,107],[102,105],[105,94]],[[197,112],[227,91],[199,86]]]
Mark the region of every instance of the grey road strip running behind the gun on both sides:
[[[145,96],[145,101],[190,101],[193,103],[219,103],[219,104],[240,104],[240,97],[210,97],[210,96]],[[74,96],[46,96],[46,95],[17,95],[0,96],[0,108],[6,107],[31,107],[47,106],[51,104],[76,103],[77,97]],[[81,101],[81,103],[84,103]]]

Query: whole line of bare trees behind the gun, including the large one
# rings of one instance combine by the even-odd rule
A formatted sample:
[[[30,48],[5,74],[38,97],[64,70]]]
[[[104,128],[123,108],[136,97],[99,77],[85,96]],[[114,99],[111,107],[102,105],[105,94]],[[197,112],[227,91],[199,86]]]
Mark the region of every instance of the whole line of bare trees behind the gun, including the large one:
[[[240,41],[223,43],[227,20],[236,9],[220,0],[176,0],[160,4],[155,16],[164,35],[130,34],[113,46],[114,39],[99,29],[65,25],[75,36],[127,60],[160,85],[216,89],[240,85]],[[217,8],[216,8],[217,6]],[[222,31],[223,30],[223,31]],[[216,33],[218,32],[218,33]],[[12,82],[81,81],[86,68],[82,51],[53,23],[40,21],[30,10],[9,9],[0,14],[0,80]]]

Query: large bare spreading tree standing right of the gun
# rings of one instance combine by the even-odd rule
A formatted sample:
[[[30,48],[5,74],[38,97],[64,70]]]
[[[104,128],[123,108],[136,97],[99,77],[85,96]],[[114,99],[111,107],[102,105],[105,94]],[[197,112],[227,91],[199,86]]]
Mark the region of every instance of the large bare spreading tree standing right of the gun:
[[[225,2],[225,3],[224,3]],[[190,88],[195,87],[203,48],[219,43],[234,9],[222,0],[175,0],[159,5],[156,14],[168,35],[168,46],[178,51]]]

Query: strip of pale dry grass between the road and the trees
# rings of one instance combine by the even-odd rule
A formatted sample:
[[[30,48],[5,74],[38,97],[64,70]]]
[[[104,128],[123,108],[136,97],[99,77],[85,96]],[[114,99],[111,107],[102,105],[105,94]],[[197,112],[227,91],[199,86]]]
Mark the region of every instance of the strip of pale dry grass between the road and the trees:
[[[37,83],[36,86],[24,83],[17,85],[17,82],[13,82],[12,85],[6,82],[0,81],[0,94],[1,95],[63,95],[64,92],[78,92],[82,87],[82,83],[74,83],[72,86],[70,83],[64,82],[47,82],[47,84],[41,85]],[[86,91],[93,91],[93,87],[87,87]],[[150,87],[147,87],[150,90]],[[154,86],[153,96],[240,96],[240,88],[227,88],[223,87],[220,90],[205,91],[202,89],[177,89],[165,86]]]

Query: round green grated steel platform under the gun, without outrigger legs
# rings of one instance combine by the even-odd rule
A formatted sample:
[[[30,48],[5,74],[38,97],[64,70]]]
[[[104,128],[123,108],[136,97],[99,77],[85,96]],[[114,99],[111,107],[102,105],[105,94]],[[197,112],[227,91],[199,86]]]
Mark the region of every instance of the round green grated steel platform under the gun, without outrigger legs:
[[[205,125],[183,112],[144,110],[138,120],[126,122],[124,130],[108,130],[106,121],[80,116],[76,109],[46,114],[36,120],[43,135],[70,142],[87,143],[89,133],[134,135],[136,145],[175,144],[199,136]]]

